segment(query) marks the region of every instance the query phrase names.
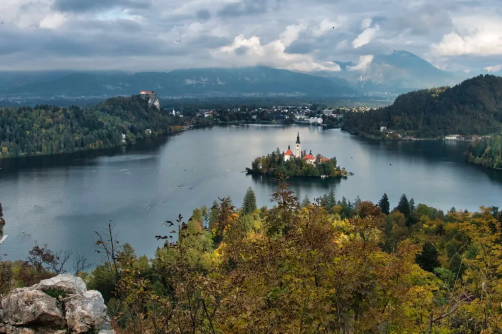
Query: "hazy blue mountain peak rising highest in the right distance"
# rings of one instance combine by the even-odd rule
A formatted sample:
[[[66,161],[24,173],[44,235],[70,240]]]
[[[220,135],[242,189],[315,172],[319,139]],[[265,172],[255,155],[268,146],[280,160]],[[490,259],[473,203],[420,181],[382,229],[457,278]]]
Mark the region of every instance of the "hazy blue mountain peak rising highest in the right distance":
[[[334,61],[340,72],[326,74],[328,78],[343,78],[353,88],[363,92],[405,93],[416,89],[453,85],[461,78],[442,71],[419,56],[407,51],[375,55],[363,71],[353,70],[353,62]]]

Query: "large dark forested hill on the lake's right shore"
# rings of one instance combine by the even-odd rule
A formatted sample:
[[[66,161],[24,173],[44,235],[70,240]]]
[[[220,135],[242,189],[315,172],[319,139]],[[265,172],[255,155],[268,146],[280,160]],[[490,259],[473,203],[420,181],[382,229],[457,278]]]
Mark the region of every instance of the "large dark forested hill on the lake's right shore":
[[[381,135],[380,126],[417,137],[489,134],[502,128],[502,77],[480,75],[452,88],[400,95],[393,105],[345,116],[345,128]]]

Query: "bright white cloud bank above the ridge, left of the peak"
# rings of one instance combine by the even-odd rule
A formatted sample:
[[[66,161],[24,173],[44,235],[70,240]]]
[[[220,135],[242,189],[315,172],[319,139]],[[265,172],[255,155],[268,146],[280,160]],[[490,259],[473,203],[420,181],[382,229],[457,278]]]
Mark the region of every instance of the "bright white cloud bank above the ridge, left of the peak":
[[[293,71],[340,71],[340,66],[333,63],[316,62],[311,55],[287,54],[285,49],[294,42],[305,27],[288,26],[280,39],[262,45],[260,38],[245,38],[238,35],[232,44],[213,50],[213,57],[223,61],[226,66],[264,65]],[[237,52],[237,50],[239,52]]]

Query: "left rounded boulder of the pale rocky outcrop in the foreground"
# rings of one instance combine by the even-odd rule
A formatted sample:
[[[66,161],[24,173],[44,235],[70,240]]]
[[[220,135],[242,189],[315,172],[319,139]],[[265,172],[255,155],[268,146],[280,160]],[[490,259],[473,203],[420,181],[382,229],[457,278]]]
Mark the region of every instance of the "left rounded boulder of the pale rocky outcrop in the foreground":
[[[51,328],[64,328],[65,320],[57,300],[42,291],[15,289],[2,298],[0,306],[3,323],[15,326],[43,323]]]

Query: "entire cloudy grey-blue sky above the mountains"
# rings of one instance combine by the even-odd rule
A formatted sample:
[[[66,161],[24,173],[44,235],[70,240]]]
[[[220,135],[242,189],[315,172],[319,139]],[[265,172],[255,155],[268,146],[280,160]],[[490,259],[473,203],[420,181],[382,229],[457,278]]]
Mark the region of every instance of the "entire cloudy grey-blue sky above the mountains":
[[[1,0],[2,21],[0,70],[337,71],[393,50],[502,69],[501,0]]]

